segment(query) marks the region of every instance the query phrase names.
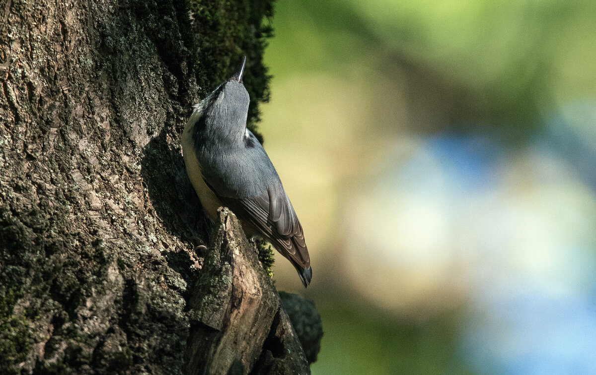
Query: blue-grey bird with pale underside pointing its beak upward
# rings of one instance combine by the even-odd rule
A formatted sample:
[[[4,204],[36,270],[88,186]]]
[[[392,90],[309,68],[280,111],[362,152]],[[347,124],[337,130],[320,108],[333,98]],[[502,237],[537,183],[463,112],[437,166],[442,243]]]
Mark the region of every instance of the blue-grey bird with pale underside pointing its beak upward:
[[[260,236],[312,279],[302,225],[267,152],[247,128],[249,93],[240,69],[195,104],[182,132],[182,156],[203,210],[217,220],[219,207],[240,219],[249,237]]]

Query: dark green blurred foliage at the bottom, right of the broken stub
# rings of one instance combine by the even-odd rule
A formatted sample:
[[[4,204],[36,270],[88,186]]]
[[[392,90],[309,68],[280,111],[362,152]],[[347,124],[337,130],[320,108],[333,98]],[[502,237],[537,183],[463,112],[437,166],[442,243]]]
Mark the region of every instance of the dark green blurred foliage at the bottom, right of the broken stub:
[[[412,321],[346,294],[315,301],[325,335],[313,374],[470,374],[455,358],[457,312]]]

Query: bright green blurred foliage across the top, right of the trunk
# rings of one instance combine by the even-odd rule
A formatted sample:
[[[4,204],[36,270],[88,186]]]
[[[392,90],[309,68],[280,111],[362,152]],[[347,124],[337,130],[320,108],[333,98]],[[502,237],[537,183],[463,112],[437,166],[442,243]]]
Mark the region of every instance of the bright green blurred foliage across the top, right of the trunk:
[[[281,0],[266,60],[279,77],[372,64],[391,79],[406,68],[434,81],[454,123],[520,135],[556,102],[596,94],[595,16],[585,0]]]

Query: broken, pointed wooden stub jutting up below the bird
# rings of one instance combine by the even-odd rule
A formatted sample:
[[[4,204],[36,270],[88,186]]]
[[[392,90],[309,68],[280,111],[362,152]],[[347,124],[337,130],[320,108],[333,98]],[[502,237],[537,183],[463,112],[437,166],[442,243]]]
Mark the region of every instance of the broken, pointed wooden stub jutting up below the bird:
[[[219,209],[212,238],[191,291],[185,372],[266,374],[275,367],[276,374],[309,374],[277,290],[227,208]]]

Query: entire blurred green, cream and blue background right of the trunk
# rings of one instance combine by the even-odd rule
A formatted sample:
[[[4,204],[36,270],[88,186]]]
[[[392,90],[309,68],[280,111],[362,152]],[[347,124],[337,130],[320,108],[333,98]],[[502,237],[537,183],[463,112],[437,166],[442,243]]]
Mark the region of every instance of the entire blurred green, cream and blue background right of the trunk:
[[[313,374],[596,373],[592,1],[278,0],[260,131]]]

